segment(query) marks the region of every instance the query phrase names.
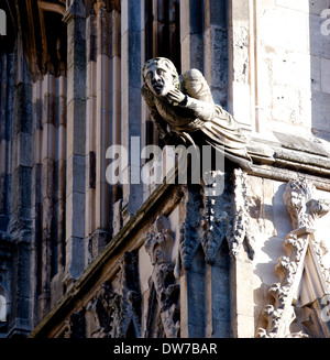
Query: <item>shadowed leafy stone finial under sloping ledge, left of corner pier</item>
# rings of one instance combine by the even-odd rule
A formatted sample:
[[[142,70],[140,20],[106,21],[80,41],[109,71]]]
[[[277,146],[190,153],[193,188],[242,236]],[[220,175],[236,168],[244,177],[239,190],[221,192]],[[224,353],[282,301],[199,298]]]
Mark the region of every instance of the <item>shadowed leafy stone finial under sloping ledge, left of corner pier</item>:
[[[180,323],[177,301],[179,297],[179,285],[175,283],[174,264],[172,263],[172,250],[174,244],[174,232],[169,221],[160,216],[155,222],[155,232],[146,233],[144,247],[154,265],[150,279],[148,310],[146,317],[146,337],[155,336],[152,324],[157,323],[154,317],[160,313],[162,324],[158,324],[157,332],[163,328],[166,338],[177,338]],[[154,309],[157,302],[158,312]],[[162,326],[160,326],[162,325]]]

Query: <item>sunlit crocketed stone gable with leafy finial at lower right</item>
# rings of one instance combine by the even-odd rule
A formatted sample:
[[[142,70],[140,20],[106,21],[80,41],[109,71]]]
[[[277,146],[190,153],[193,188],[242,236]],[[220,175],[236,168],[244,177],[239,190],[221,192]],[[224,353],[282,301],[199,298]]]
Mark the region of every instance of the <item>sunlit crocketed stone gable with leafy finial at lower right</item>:
[[[288,183],[284,193],[283,199],[295,230],[285,239],[286,257],[280,257],[276,263],[275,273],[280,282],[270,288],[275,304],[265,307],[264,316],[268,325],[266,329],[258,329],[257,337],[308,337],[304,331],[290,332],[290,326],[296,318],[294,306],[299,297],[299,288],[300,292],[302,288],[302,297],[306,298],[300,301],[301,306],[321,298],[330,290],[329,270],[322,261],[327,250],[322,241],[315,238],[315,230],[311,228],[316,219],[329,212],[330,207],[324,200],[314,199],[314,193],[315,186],[306,178]],[[314,279],[302,280],[304,269],[308,269],[307,272],[312,274]],[[310,284],[304,286],[304,281],[309,281]]]

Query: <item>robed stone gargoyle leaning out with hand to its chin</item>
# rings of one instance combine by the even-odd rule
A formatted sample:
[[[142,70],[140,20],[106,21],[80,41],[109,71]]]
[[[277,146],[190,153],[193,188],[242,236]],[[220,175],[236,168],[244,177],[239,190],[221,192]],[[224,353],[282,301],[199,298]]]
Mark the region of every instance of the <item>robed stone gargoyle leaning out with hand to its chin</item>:
[[[197,69],[183,75],[165,57],[147,61],[142,70],[142,96],[166,144],[211,145],[242,168],[251,168],[248,139],[233,117],[216,105]]]

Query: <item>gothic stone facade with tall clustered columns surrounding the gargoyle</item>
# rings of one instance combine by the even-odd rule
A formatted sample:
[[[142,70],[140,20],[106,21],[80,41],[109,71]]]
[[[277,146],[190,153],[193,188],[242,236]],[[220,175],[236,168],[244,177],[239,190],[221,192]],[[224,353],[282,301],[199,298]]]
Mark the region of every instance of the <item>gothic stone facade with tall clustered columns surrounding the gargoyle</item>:
[[[0,337],[330,336],[329,0],[0,8]],[[154,56],[205,75],[250,171],[108,184],[110,145],[162,145]]]

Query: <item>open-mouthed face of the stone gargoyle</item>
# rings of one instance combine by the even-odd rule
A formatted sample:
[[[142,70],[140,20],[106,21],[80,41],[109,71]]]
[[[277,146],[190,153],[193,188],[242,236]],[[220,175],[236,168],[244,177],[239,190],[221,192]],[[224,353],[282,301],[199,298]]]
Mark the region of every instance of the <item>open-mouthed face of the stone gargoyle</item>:
[[[155,96],[165,97],[175,88],[169,69],[160,64],[147,67],[144,72],[144,78],[147,87]]]

